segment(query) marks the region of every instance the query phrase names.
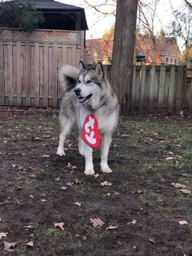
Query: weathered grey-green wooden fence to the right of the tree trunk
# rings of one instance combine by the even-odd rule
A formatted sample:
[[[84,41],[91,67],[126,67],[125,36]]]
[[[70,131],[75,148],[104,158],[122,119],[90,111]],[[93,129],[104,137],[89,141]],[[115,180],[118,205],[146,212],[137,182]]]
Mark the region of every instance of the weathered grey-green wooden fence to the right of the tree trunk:
[[[175,65],[134,66],[131,112],[192,115],[192,78],[187,70]],[[111,67],[105,72],[110,77]]]

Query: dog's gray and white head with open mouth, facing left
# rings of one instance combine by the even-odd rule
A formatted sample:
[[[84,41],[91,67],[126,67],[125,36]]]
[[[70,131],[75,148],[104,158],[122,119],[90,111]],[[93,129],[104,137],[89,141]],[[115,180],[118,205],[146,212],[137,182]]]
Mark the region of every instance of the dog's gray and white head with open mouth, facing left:
[[[79,103],[92,103],[94,105],[100,100],[104,93],[104,72],[102,63],[97,63],[95,68],[85,68],[80,61],[79,77],[75,93]]]

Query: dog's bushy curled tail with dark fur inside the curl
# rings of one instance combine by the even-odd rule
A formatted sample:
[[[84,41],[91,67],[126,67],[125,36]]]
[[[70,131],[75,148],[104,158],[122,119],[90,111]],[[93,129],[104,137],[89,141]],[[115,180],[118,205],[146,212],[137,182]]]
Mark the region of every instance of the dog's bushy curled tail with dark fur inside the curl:
[[[60,82],[65,90],[72,90],[77,83],[79,69],[72,65],[64,65],[59,72]]]

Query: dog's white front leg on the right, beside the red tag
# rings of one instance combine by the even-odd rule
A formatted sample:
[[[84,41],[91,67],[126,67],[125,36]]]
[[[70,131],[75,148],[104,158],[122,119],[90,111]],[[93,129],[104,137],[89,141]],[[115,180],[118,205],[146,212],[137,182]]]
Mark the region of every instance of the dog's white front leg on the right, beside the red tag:
[[[108,152],[111,144],[111,134],[103,134],[101,144],[101,156],[100,156],[100,167],[102,172],[111,173],[111,169],[108,166]]]

